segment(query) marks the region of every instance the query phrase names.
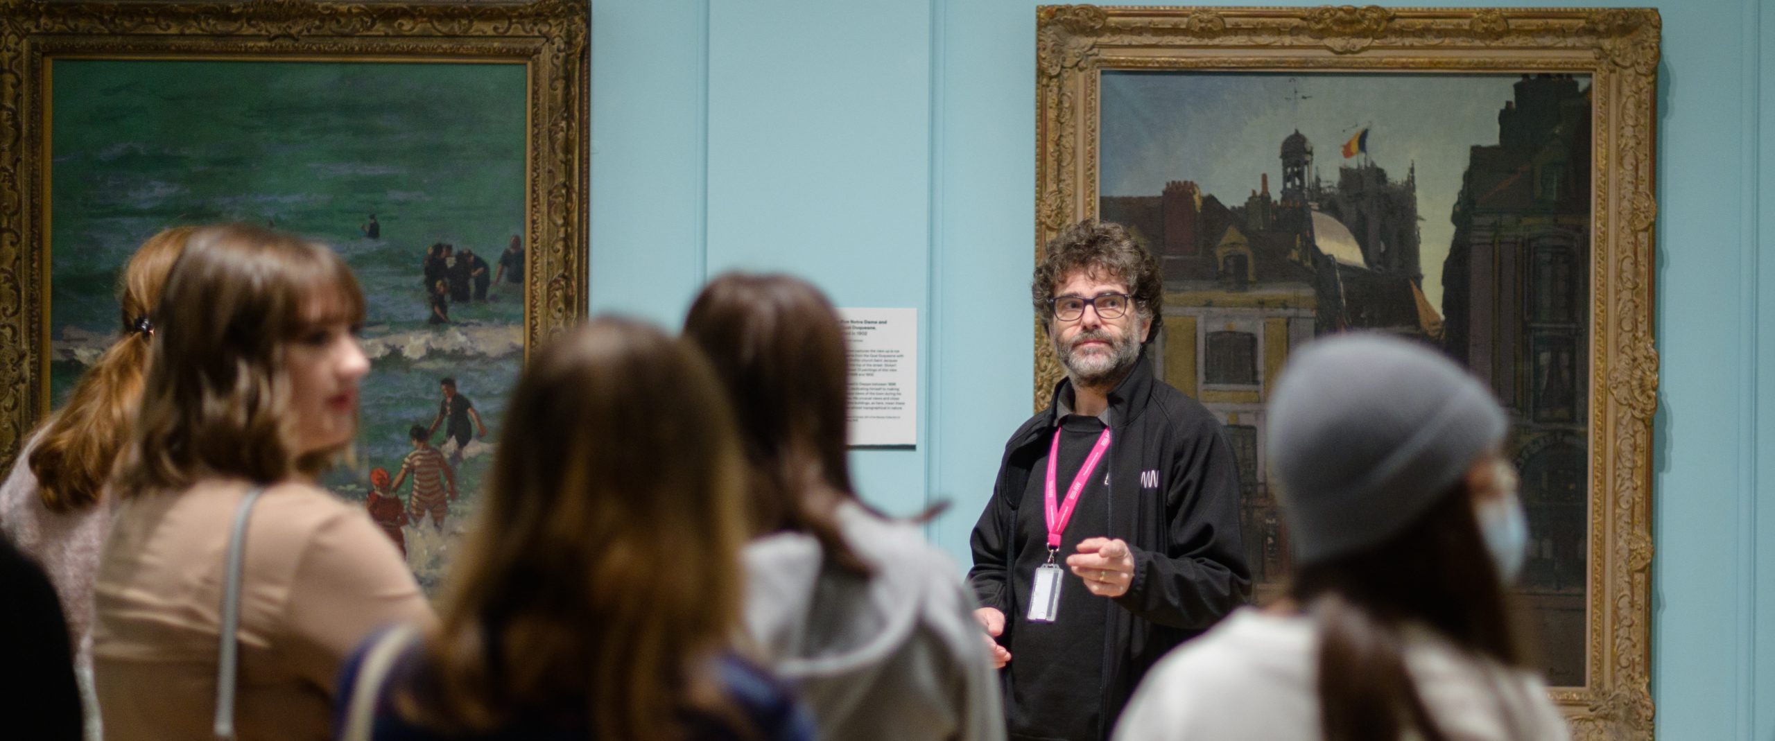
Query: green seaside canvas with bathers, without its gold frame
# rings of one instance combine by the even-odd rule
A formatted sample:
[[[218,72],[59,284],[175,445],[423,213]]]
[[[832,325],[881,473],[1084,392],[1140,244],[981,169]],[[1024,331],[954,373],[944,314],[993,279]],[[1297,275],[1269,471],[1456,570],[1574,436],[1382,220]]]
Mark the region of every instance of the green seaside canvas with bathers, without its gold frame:
[[[430,466],[369,511],[435,594],[524,358],[524,66],[57,60],[51,82],[51,404],[117,332],[117,271],[156,230],[250,222],[330,245],[364,289],[371,374],[355,463],[323,484],[364,503],[373,470]],[[414,456],[414,425],[437,456]],[[438,479],[458,496],[415,502]]]

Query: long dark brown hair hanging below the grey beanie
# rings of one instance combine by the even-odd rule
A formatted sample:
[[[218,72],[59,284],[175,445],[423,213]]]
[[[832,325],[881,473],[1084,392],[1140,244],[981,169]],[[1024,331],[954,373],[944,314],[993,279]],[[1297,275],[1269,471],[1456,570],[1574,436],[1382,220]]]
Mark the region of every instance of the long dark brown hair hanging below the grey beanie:
[[[1528,665],[1466,482],[1392,541],[1298,567],[1289,592],[1317,622],[1326,741],[1399,739],[1406,729],[1448,739],[1406,670],[1406,626],[1503,667]]]

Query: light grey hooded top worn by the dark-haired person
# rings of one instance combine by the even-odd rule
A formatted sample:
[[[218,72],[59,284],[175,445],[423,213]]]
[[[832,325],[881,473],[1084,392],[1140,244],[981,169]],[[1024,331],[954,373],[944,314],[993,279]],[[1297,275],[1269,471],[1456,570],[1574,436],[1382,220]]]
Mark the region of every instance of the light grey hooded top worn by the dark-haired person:
[[[827,562],[811,535],[746,548],[758,659],[799,690],[824,739],[1005,739],[998,672],[955,564],[916,526],[854,503],[838,523],[872,576]]]

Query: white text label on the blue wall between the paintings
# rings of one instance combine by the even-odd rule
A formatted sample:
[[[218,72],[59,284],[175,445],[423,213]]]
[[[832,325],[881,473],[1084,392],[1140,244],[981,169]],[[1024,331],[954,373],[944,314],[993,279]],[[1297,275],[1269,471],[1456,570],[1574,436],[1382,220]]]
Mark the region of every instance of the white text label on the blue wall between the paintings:
[[[850,340],[850,445],[918,445],[918,308],[840,308]]]

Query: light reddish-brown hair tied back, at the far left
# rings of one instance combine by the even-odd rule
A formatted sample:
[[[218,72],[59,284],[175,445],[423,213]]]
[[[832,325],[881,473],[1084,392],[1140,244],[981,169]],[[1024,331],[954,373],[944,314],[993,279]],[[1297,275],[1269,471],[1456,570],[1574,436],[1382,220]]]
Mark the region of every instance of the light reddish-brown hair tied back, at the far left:
[[[172,227],[147,238],[117,277],[121,335],[75,385],[67,406],[44,424],[28,464],[37,477],[37,498],[51,512],[92,507],[110,479],[117,452],[130,440],[135,406],[142,399],[153,321],[167,271],[185,250],[192,227]]]

